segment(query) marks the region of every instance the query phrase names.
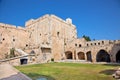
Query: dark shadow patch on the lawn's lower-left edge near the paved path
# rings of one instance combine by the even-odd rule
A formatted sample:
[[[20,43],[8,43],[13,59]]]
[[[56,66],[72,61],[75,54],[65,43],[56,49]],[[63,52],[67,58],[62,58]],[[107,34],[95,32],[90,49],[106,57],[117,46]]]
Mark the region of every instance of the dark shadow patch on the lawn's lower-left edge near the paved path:
[[[32,80],[55,80],[53,77],[48,75],[42,75],[37,73],[27,73],[27,76],[31,77]]]

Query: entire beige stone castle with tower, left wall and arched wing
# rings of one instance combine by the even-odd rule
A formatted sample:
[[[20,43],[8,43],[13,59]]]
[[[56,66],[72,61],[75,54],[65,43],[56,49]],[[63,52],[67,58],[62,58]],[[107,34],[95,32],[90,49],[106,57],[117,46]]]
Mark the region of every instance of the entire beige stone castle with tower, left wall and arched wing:
[[[55,15],[30,19],[25,27],[0,23],[1,60],[10,54],[11,48],[35,54],[32,60],[38,63],[51,59],[120,62],[120,40],[86,41],[77,38],[72,20],[62,20]],[[17,51],[15,53],[18,54]]]

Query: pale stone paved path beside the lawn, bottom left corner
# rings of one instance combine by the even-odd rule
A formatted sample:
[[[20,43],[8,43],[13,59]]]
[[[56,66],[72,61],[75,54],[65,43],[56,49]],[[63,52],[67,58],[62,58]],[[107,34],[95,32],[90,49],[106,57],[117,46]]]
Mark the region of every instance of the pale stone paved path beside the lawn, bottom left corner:
[[[32,80],[10,64],[0,64],[0,80]]]

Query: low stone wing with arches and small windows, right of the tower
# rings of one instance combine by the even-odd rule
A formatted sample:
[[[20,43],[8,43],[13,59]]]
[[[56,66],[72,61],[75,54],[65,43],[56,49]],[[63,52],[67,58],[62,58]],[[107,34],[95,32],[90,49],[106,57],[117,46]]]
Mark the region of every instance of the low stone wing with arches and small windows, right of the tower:
[[[120,40],[85,41],[76,39],[66,46],[68,59],[89,62],[119,62]]]

